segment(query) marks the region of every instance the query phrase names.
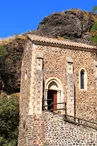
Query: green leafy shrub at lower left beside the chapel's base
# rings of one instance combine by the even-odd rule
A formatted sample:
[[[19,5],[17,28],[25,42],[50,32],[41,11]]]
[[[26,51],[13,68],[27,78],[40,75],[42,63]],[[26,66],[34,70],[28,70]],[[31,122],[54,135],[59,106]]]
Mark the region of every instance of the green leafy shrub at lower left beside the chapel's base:
[[[0,145],[16,146],[18,138],[19,104],[16,94],[0,100]]]

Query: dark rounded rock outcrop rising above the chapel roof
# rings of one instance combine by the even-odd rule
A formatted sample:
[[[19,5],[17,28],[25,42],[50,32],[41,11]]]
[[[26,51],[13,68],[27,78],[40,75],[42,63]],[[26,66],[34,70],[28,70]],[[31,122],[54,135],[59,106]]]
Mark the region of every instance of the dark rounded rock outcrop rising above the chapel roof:
[[[41,36],[62,37],[91,44],[91,28],[97,15],[78,9],[53,13],[40,22],[35,33]]]

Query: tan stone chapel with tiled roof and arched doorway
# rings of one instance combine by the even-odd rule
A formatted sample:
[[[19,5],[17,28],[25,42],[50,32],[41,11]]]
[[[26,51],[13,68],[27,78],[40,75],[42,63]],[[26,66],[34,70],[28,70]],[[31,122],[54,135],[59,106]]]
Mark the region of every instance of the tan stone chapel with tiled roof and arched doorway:
[[[97,47],[32,34],[27,37],[18,146],[46,146],[45,112],[45,118],[49,112],[66,112],[97,120]]]

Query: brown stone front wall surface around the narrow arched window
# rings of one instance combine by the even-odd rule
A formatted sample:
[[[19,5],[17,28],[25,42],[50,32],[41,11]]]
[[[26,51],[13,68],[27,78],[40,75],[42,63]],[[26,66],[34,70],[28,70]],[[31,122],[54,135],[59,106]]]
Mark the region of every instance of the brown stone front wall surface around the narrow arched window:
[[[71,57],[74,69],[74,86],[76,99],[76,116],[84,119],[96,120],[96,78],[94,74],[94,60],[96,53],[89,50],[76,50],[68,46],[64,48],[38,45],[37,51],[43,54],[44,83],[51,77],[58,78],[63,87],[64,101],[67,102],[66,58]],[[79,88],[79,72],[87,71],[87,90]]]

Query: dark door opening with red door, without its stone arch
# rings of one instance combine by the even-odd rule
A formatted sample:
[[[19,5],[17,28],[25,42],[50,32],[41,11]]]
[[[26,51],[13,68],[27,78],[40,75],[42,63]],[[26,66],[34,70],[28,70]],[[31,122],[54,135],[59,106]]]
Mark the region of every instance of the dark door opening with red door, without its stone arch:
[[[56,110],[57,109],[57,91],[56,90],[48,90],[47,96],[47,104],[48,110]]]

